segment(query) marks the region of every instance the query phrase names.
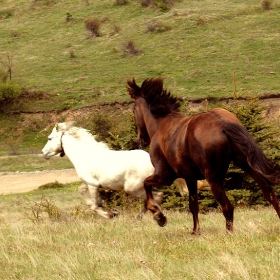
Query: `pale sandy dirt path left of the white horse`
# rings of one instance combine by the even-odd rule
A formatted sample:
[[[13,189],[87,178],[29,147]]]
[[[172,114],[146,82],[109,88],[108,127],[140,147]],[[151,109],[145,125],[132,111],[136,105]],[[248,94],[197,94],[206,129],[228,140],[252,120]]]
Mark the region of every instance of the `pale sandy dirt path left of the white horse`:
[[[77,182],[79,178],[75,169],[0,173],[0,195],[32,191],[55,181],[66,184]]]

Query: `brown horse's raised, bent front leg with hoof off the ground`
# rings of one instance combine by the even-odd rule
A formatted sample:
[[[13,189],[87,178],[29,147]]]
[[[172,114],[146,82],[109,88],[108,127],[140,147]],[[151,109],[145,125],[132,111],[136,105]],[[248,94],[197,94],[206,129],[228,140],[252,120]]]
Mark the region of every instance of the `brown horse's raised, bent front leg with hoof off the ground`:
[[[153,214],[154,219],[157,221],[158,225],[164,227],[167,223],[165,215],[161,211],[161,207],[156,203],[153,197],[152,186],[161,186],[161,180],[158,176],[150,176],[145,179],[144,187],[146,191],[146,208],[150,210]]]

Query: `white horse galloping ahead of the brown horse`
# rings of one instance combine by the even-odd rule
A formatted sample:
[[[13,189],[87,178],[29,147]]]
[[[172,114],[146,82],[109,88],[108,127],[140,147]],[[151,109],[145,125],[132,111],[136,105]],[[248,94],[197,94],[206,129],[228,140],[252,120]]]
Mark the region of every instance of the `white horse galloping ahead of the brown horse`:
[[[153,174],[154,167],[149,153],[143,150],[114,151],[107,144],[97,142],[95,136],[84,128],[71,123],[58,123],[48,136],[42,150],[46,159],[65,154],[74,165],[79,178],[85,183],[81,193],[91,209],[105,218],[116,213],[105,211],[99,203],[98,188],[124,190],[133,197],[146,200],[144,179]],[[87,195],[89,191],[90,196]],[[162,192],[154,192],[154,198],[161,205]],[[146,205],[137,215],[141,218],[147,211]]]

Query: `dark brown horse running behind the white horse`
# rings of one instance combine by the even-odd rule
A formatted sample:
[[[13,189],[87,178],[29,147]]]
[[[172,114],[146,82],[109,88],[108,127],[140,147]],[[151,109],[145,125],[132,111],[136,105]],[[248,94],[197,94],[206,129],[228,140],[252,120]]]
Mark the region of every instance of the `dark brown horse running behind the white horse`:
[[[144,187],[147,208],[160,226],[166,224],[166,217],[153,199],[152,186],[170,185],[176,178],[184,178],[189,189],[193,233],[199,233],[197,180],[205,178],[221,205],[227,230],[232,231],[234,207],[224,190],[231,161],[252,176],[280,218],[272,189],[272,185],[280,183],[279,173],[235,115],[216,108],[183,116],[179,113],[179,99],[163,89],[162,78],[146,79],[141,87],[135,79],[128,80],[127,90],[135,100],[138,141],[142,146],[150,145],[155,171],[145,179]]]

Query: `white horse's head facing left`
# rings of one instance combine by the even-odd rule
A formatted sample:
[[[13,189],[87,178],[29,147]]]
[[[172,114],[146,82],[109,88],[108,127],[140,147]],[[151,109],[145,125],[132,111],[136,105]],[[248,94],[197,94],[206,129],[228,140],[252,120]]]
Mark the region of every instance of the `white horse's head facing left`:
[[[57,123],[55,125],[52,133],[48,136],[47,144],[42,150],[45,159],[50,159],[59,153],[61,157],[65,155],[61,138],[70,125],[70,123]]]

